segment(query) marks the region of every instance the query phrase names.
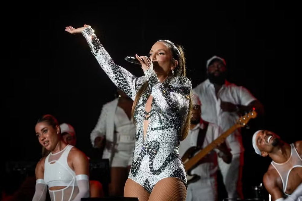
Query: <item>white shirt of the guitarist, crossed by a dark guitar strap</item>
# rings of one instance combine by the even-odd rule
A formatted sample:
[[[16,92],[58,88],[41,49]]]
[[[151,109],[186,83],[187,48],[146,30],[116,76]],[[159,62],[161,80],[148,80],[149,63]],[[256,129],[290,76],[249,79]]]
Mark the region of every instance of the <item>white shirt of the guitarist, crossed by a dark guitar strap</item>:
[[[182,157],[190,147],[197,146],[199,129],[203,128],[204,124],[197,124],[193,129],[189,130],[188,136],[185,138],[185,140],[180,142],[180,157]],[[209,123],[202,147],[206,147],[208,144],[217,139],[222,133],[223,131],[219,126]],[[210,159],[209,162],[202,163],[191,171],[192,174],[197,174],[201,177],[199,181],[209,178],[215,178],[215,175],[217,173],[218,165],[216,150],[212,150],[207,155],[207,157]]]

